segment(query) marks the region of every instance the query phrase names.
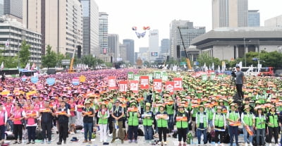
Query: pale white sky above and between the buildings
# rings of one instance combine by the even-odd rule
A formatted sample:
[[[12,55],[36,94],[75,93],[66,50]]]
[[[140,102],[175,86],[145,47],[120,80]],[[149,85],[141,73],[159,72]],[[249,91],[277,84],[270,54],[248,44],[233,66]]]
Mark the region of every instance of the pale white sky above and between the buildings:
[[[109,14],[109,34],[118,34],[123,39],[135,40],[135,51],[148,47],[149,39],[138,39],[137,32],[144,32],[143,26],[159,30],[161,39],[169,39],[169,24],[172,20],[190,20],[194,26],[205,26],[206,32],[212,30],[212,0],[95,0],[99,12]],[[249,0],[249,10],[259,10],[260,24],[264,20],[282,15],[282,0]]]

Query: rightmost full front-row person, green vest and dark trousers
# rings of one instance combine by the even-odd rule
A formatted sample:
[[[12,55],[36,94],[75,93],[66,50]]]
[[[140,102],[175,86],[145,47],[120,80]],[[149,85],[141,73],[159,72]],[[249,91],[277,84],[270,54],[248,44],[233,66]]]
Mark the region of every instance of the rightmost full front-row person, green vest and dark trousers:
[[[278,129],[279,129],[279,123],[278,123],[278,114],[276,113],[276,108],[270,107],[269,113],[266,114],[266,123],[268,125],[269,129],[269,137],[268,140],[272,139],[272,135],[274,135],[275,144],[278,145]],[[271,145],[271,143],[269,143]]]

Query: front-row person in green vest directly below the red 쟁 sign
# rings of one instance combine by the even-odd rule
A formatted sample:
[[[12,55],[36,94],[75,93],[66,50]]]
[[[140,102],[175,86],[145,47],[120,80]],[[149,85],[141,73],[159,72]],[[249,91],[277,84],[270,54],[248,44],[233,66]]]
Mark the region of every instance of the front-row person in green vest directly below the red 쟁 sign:
[[[164,145],[167,145],[166,128],[168,128],[168,119],[168,114],[164,111],[164,105],[161,104],[161,106],[159,106],[159,111],[156,114],[157,127],[159,130],[159,144],[162,142],[161,135],[164,135]]]

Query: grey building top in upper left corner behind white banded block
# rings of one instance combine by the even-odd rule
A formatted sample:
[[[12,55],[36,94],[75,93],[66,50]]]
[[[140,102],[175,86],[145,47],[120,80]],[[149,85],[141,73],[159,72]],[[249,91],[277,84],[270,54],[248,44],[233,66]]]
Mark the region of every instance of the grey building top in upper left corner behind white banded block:
[[[4,0],[4,15],[22,22],[23,0]]]

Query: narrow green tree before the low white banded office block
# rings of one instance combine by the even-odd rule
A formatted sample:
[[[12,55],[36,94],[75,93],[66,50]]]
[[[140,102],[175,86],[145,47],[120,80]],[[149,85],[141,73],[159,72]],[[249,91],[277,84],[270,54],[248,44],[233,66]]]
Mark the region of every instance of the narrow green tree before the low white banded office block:
[[[18,52],[18,55],[20,58],[20,66],[24,68],[28,63],[28,60],[30,59],[30,44],[27,44],[25,40],[23,40],[22,42],[22,46],[20,51]]]

